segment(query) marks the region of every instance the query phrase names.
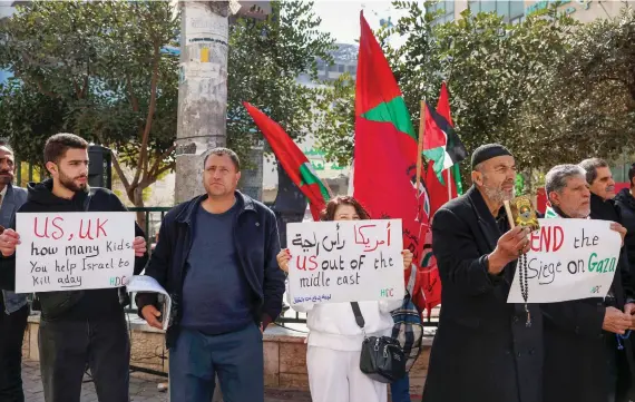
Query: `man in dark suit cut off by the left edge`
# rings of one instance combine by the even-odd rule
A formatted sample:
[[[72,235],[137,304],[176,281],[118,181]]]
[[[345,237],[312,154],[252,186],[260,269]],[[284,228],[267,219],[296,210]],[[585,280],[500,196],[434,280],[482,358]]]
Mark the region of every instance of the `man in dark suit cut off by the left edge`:
[[[13,153],[0,143],[0,225],[9,227],[16,210],[27,200],[27,190],[13,187]],[[0,297],[0,401],[23,402],[22,339],[29,317],[27,296],[1,291]]]

